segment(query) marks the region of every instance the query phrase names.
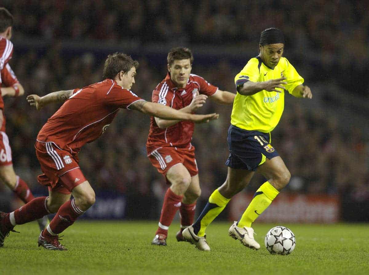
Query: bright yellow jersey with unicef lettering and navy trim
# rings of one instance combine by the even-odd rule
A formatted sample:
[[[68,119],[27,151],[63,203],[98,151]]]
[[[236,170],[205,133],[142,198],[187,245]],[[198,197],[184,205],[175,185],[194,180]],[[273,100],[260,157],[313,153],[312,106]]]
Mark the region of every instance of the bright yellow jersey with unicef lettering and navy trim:
[[[234,99],[231,124],[244,129],[256,130],[263,133],[271,132],[278,124],[284,109],[284,92],[292,91],[296,86],[304,83],[304,79],[287,60],[281,57],[274,69],[266,66],[261,58],[251,58],[239,72],[234,81],[236,88],[247,81],[263,82],[270,79],[286,77],[284,89],[281,92],[262,90],[254,95],[241,95],[237,92]]]

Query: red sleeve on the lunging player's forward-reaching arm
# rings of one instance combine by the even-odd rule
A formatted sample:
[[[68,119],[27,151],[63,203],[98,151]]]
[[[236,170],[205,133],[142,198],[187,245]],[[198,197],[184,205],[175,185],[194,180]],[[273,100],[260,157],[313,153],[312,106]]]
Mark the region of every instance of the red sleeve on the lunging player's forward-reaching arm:
[[[118,86],[111,88],[110,92],[106,95],[106,99],[109,105],[125,109],[130,109],[130,105],[136,101],[144,100],[134,94],[134,92]]]

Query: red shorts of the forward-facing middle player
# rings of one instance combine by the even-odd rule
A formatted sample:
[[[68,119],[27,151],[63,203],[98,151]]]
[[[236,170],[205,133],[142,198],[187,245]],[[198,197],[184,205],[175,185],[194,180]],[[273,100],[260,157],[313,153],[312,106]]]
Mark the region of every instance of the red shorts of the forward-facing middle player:
[[[176,147],[158,147],[148,155],[151,164],[158,169],[158,172],[166,175],[170,167],[182,163],[190,172],[191,177],[196,176],[197,163],[195,159],[195,147],[190,145],[190,149]]]

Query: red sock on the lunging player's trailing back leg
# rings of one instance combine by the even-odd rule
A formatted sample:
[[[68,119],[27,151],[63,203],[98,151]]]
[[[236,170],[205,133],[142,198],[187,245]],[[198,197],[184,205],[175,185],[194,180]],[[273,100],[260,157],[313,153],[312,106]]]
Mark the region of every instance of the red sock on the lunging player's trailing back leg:
[[[25,224],[50,214],[46,209],[46,198],[38,197],[14,211],[15,224]]]

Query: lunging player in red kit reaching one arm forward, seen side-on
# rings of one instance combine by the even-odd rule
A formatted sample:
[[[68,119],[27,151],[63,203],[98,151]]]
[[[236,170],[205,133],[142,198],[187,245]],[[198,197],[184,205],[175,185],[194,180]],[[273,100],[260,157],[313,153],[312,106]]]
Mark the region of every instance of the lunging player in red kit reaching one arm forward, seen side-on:
[[[103,81],[82,89],[53,92],[41,98],[38,95],[27,97],[37,109],[51,102],[65,101],[42,127],[35,144],[37,159],[44,173],[38,176],[38,181],[48,186],[49,196],[35,198],[12,213],[0,212],[1,246],[16,224],[56,212],[50,224],[41,231],[38,245],[50,250],[65,250],[58,241],[58,234],[95,202],[94,190],[79,168],[78,152],[108,129],[120,108],[163,119],[207,122],[218,118],[215,113],[192,115],[139,98],[130,91],[135,83],[137,67],[137,61],[117,52],[105,61]]]

